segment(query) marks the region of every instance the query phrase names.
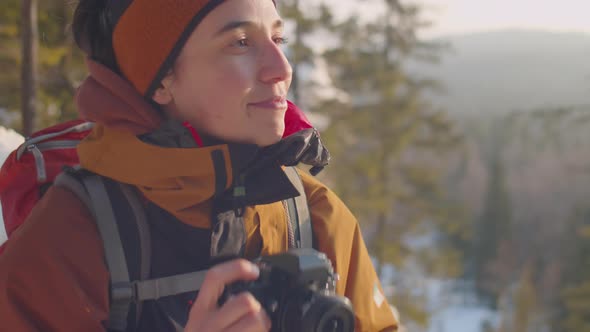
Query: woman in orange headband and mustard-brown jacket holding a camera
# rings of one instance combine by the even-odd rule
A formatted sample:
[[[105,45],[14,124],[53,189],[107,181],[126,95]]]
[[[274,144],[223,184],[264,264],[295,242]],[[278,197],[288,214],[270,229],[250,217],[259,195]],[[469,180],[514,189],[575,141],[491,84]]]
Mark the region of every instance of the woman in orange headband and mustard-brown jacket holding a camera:
[[[78,109],[97,123],[78,147],[80,162],[134,185],[145,198],[157,252],[152,276],[211,265],[224,250],[214,248],[211,225],[228,209],[225,194],[244,183],[250,184],[237,206],[246,235],[240,253],[254,258],[287,250],[280,164],[304,160],[322,167],[326,154],[309,134],[296,150],[283,143],[290,139],[282,139],[285,125],[287,131],[309,126],[285,119],[293,111],[286,101],[292,72],[280,49],[285,38],[274,2],[81,0],[72,29],[89,56]],[[221,167],[212,151],[221,151]],[[269,158],[274,162],[261,161]],[[248,174],[258,174],[256,181],[244,175],[253,167],[257,173]],[[340,276],[336,291],[351,300],[356,330],[395,330],[356,220],[334,193],[300,175],[316,248]],[[0,256],[3,329],[104,331],[109,274],[103,255],[84,205],[52,187]],[[270,330],[249,293],[218,306],[225,285],[258,273],[244,259],[211,267],[187,307],[185,331]],[[173,330],[166,310],[157,300],[146,303],[137,330]]]

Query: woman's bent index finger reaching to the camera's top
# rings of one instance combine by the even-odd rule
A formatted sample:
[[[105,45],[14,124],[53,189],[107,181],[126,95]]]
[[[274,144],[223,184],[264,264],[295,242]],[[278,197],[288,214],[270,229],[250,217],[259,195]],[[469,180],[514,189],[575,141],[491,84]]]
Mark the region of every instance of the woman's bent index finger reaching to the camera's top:
[[[225,285],[238,280],[254,280],[259,274],[258,267],[244,259],[236,259],[212,267],[205,276],[189,315],[193,312],[202,313],[217,309],[217,301]]]

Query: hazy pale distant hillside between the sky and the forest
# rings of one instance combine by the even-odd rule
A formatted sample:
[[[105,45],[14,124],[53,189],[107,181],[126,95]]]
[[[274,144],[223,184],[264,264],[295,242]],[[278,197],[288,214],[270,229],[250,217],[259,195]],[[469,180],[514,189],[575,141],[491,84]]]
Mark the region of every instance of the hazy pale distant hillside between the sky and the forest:
[[[408,64],[439,79],[432,96],[452,113],[506,112],[590,104],[590,35],[508,30],[440,38],[439,64]]]

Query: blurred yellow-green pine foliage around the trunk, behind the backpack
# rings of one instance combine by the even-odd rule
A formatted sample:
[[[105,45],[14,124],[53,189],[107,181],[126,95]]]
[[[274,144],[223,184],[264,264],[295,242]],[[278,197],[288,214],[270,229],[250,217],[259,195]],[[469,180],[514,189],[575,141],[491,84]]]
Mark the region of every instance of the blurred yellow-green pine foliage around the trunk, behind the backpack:
[[[0,109],[12,114],[22,107],[18,98],[23,91],[19,70],[24,64],[19,52],[23,37],[22,5],[23,2],[18,0],[6,0],[0,11]],[[86,76],[86,68],[84,57],[74,46],[69,32],[73,9],[72,4],[64,1],[38,2],[36,129],[76,117],[73,95]],[[24,130],[21,121],[2,125]]]

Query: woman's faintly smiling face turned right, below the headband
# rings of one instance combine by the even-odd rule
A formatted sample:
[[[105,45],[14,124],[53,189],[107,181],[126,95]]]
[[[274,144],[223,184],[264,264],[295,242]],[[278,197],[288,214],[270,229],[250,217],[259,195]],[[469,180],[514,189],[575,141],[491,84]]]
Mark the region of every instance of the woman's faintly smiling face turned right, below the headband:
[[[228,0],[197,26],[154,100],[200,133],[266,146],[284,131],[292,70],[271,0]]]

